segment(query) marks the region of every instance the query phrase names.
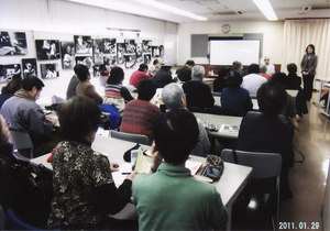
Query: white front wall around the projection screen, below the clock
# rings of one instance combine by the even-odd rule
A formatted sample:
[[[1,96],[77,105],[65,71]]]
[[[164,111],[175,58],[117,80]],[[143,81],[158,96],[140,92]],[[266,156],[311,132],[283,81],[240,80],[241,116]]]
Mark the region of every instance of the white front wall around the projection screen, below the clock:
[[[221,25],[230,24],[231,34],[262,33],[263,54],[271,57],[271,62],[280,64],[284,22],[237,21],[237,22],[198,22],[180,23],[178,26],[178,65],[184,65],[190,57],[191,34],[220,34]],[[230,34],[227,34],[230,35]],[[207,58],[193,58],[197,64],[208,64]]]

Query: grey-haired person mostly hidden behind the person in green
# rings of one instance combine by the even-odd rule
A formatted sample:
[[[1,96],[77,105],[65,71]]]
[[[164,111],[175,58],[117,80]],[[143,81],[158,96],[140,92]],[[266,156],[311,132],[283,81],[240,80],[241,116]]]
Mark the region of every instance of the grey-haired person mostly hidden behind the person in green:
[[[185,92],[183,88],[180,88],[180,86],[175,82],[172,82],[164,87],[162,92],[162,101],[169,110],[187,107]],[[207,154],[210,152],[210,141],[208,138],[208,133],[200,120],[197,119],[197,123],[199,129],[198,142],[200,142],[200,144],[202,145],[204,154]]]

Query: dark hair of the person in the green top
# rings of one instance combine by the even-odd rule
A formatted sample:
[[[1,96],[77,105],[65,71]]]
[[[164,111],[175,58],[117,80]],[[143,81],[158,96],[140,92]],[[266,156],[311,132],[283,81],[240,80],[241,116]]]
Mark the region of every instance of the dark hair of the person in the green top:
[[[186,109],[172,109],[160,116],[153,135],[156,147],[170,164],[184,163],[198,142],[198,124]]]

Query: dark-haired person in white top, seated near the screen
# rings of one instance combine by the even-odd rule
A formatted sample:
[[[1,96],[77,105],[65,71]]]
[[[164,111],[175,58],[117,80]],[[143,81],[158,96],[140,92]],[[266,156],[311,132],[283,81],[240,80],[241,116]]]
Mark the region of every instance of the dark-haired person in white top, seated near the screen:
[[[245,88],[250,92],[250,97],[255,97],[256,91],[262,86],[262,84],[266,82],[267,79],[262,77],[260,74],[260,67],[257,64],[251,64],[249,66],[249,75],[243,77],[243,82],[241,85],[242,88]]]

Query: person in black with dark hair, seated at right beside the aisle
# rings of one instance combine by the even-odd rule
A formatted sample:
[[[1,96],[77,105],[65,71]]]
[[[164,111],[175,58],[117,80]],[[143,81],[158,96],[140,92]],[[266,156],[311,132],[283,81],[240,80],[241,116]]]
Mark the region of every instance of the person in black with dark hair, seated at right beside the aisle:
[[[280,193],[292,197],[288,185],[288,167],[293,164],[294,129],[283,122],[278,114],[286,106],[287,94],[277,82],[266,82],[257,91],[261,113],[249,112],[242,120],[238,150],[279,153],[282,155]]]

